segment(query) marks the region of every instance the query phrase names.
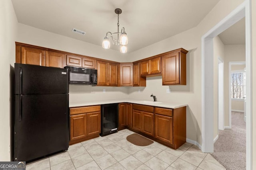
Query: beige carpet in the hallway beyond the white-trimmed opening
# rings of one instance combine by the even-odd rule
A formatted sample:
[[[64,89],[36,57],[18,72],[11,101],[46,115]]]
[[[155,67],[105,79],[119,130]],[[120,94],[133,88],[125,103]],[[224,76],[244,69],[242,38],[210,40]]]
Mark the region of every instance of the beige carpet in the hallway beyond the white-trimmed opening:
[[[211,155],[227,170],[246,170],[246,123],[244,113],[232,111],[232,128],[219,130]]]

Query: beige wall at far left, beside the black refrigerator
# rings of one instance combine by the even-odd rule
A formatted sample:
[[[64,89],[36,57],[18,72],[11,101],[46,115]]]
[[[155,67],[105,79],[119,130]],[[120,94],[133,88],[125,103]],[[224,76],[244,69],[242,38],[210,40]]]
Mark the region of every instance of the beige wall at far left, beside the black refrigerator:
[[[10,72],[14,66],[15,38],[17,32],[17,18],[9,0],[0,1],[0,161],[10,161],[8,147],[10,145]]]

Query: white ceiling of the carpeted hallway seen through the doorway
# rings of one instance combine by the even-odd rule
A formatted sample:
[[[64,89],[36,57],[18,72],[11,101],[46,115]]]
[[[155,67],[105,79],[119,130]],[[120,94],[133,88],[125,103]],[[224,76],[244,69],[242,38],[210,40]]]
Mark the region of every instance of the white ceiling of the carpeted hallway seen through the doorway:
[[[224,45],[245,44],[245,18],[223,31],[218,35]]]

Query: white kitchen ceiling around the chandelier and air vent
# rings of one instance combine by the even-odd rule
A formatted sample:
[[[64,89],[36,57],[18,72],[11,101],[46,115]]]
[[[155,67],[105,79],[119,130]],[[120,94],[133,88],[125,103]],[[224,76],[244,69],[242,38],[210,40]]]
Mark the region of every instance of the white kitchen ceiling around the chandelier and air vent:
[[[18,22],[102,46],[106,32],[128,35],[128,53],[195,27],[219,0],[12,0]],[[86,32],[72,32],[72,28]],[[224,37],[220,35],[220,37]],[[224,38],[223,38],[224,39]],[[224,41],[224,40],[222,40]],[[234,41],[232,41],[234,42]],[[119,50],[111,45],[112,49]]]

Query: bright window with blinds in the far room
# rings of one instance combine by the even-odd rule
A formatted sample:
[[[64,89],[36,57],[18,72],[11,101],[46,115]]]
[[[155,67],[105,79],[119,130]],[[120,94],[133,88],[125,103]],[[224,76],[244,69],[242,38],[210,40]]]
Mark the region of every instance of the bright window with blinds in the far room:
[[[244,97],[243,72],[231,73],[231,98],[242,99]]]

